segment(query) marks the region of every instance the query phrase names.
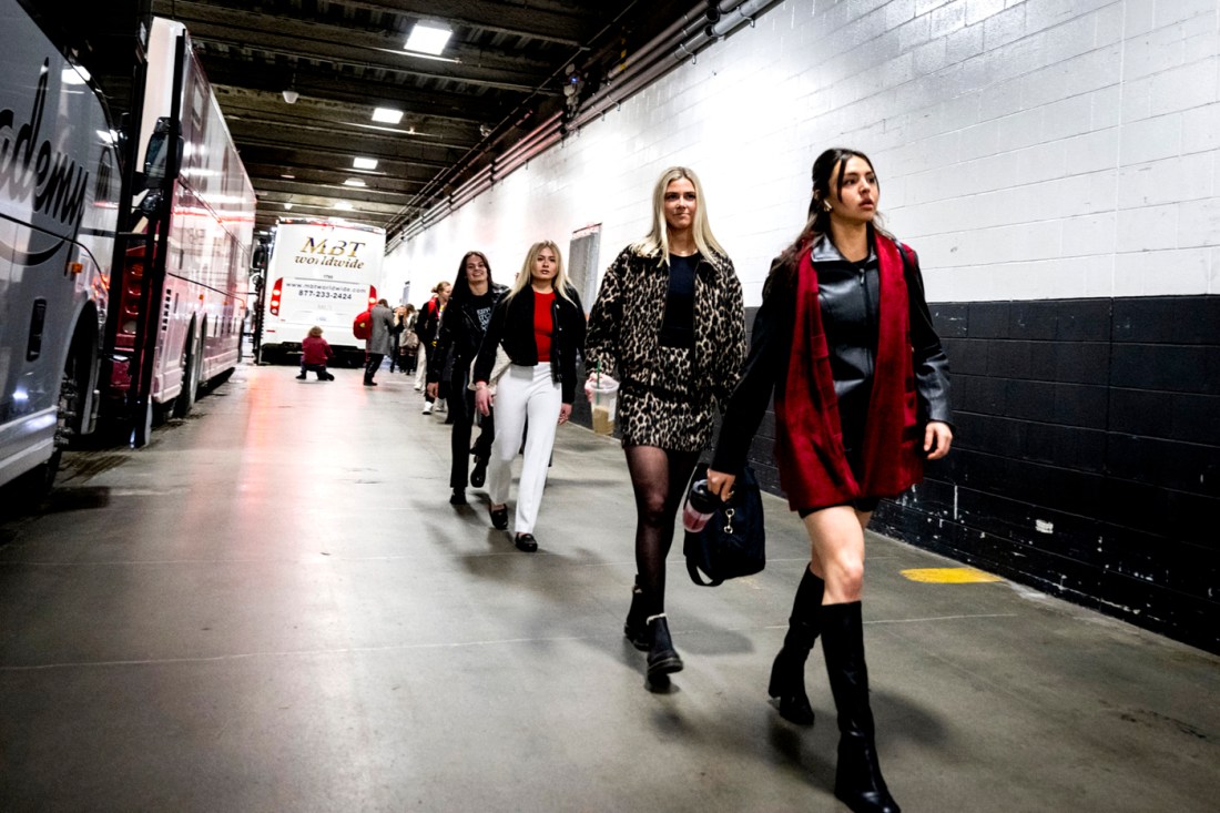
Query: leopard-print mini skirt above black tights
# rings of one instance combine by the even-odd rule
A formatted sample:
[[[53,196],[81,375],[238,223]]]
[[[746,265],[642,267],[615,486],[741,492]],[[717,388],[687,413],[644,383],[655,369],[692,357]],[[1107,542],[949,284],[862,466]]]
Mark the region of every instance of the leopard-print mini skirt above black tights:
[[[655,446],[672,452],[702,452],[711,444],[716,406],[694,383],[688,348],[658,348],[647,380],[622,382],[617,422],[623,446]]]

